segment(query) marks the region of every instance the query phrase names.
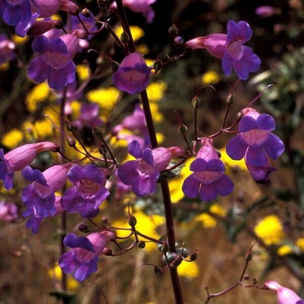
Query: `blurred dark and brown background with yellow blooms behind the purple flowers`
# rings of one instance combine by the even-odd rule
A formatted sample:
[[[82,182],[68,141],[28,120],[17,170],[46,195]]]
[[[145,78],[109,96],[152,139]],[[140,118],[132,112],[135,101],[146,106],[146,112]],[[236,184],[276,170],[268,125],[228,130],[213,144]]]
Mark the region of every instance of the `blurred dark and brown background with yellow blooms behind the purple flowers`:
[[[78,3],[94,15],[99,13],[94,1]],[[269,13],[256,14],[260,6],[268,5]],[[228,174],[235,183],[232,195],[218,198],[209,204],[199,199],[186,199],[181,184],[190,174],[189,163],[180,174],[170,179],[169,186],[174,203],[176,239],[188,253],[198,250],[198,259],[192,263],[182,262],[178,267],[185,303],[202,303],[206,298],[205,287],[219,292],[238,281],[245,263],[245,253],[252,248],[253,259],[246,274],[262,286],[267,280],[276,280],[304,296],[304,3],[290,1],[234,1],[234,0],[157,0],[151,6],[155,19],[146,24],[140,13],[127,9],[136,48],[148,65],[157,56],[170,52],[168,28],[175,24],[178,35],[184,41],[210,33],[225,33],[226,23],[233,19],[247,21],[252,30],[251,40],[246,44],[262,61],[258,72],[250,74],[234,91],[234,103],[227,117],[231,125],[237,113],[246,107],[265,87],[268,88],[255,102],[260,113],[270,113],[276,120],[275,134],[285,144],[282,157],[273,163],[278,168],[267,185],[255,183],[243,161],[232,161],[225,154],[225,144],[230,136],[220,135],[214,139],[215,147]],[[65,13],[54,18],[69,22]],[[118,35],[122,29],[115,15],[110,24]],[[55,125],[59,125],[58,100],[60,92],[50,90],[47,84],[34,84],[27,77],[26,67],[32,58],[32,38],[20,39],[14,29],[1,23],[1,32],[16,45],[16,56],[0,65],[0,144],[7,152],[16,146],[39,140],[59,140]],[[122,53],[106,30],[94,35],[90,48],[121,61]],[[93,102],[99,106],[99,117],[105,122],[106,139],[119,161],[127,157],[127,131],[113,134],[112,128],[131,115],[138,96],[127,95],[113,87],[110,64],[88,49],[79,52],[77,64],[78,87],[83,85],[96,68],[101,77],[90,81],[77,98],[71,100],[70,120],[78,118],[81,104]],[[175,55],[182,49],[175,50]],[[226,98],[237,81],[236,74],[225,77],[221,61],[205,50],[187,53],[151,77],[147,88],[151,109],[156,123],[158,139],[162,146],[185,146],[178,133],[178,110],[182,122],[188,127],[186,136],[194,138],[194,113],[191,101],[198,94],[199,136],[211,135],[220,130],[226,112]],[[44,115],[53,121],[50,121]],[[90,128],[83,126],[79,135],[94,152],[94,139]],[[66,147],[69,157],[79,155]],[[43,153],[33,163],[41,170],[58,161],[55,155]],[[109,184],[111,180],[109,181]],[[25,181],[20,172],[16,174],[15,187],[6,191],[1,187],[3,204],[14,203],[18,217],[0,220],[0,303],[32,304],[57,303],[63,295],[60,288],[61,271],[56,265],[60,255],[60,220],[45,219],[38,234],[25,229],[21,216],[24,206],[21,192]],[[110,186],[113,186],[110,184]],[[115,189],[115,185],[113,186]],[[114,191],[112,192],[114,193]],[[102,204],[100,216],[108,217],[112,225],[127,227],[126,206],[131,204],[136,216],[137,229],[151,237],[159,238],[165,233],[164,211],[160,189],[149,198],[136,198],[132,194],[111,195]],[[1,215],[1,214],[0,214]],[[68,216],[68,231],[78,232],[82,219],[77,214]],[[120,243],[124,248],[131,240]],[[182,245],[184,243],[184,245]],[[115,247],[113,247],[115,248]],[[114,249],[113,249],[114,250]],[[68,278],[72,303],[97,304],[152,304],[173,303],[169,273],[157,275],[154,268],[144,263],[162,266],[162,253],[154,244],[144,249],[134,248],[118,257],[102,256],[98,272],[82,283]],[[210,303],[276,303],[274,291],[238,287],[214,298]]]

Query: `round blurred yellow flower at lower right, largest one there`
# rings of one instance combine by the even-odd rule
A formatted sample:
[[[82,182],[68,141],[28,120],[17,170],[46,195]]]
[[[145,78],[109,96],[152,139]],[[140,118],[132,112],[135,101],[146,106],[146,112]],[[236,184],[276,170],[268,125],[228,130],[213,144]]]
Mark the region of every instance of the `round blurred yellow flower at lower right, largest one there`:
[[[266,245],[278,244],[284,238],[283,225],[274,214],[259,221],[254,232]]]

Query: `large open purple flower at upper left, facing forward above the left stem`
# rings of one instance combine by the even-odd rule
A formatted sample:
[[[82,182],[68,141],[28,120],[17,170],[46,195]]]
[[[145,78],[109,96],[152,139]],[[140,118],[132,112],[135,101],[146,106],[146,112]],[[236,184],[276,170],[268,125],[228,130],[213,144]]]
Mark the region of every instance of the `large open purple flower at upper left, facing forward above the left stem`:
[[[34,52],[41,53],[28,66],[28,76],[37,83],[48,80],[52,89],[60,90],[75,81],[75,64],[72,58],[77,52],[77,37],[65,34],[48,39],[45,35],[35,37]]]

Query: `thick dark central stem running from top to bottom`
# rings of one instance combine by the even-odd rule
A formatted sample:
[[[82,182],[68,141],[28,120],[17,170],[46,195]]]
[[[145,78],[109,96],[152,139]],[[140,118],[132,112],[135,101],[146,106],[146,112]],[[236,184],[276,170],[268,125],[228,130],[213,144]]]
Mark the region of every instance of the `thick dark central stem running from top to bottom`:
[[[122,2],[122,0],[115,0],[115,1],[117,4],[118,14],[122,21],[122,26],[130,37],[130,40],[128,42],[129,50],[131,53],[135,52],[135,45],[134,45],[131,30],[130,30],[129,22],[128,22],[128,19],[126,16],[126,12],[125,12],[125,9],[123,6],[123,2]],[[148,129],[148,133],[149,133],[149,137],[150,137],[151,147],[157,148],[158,142],[157,142],[154,122],[153,122],[153,118],[152,118],[152,114],[151,114],[151,109],[150,109],[150,105],[149,105],[147,91],[144,90],[143,92],[141,92],[140,97],[141,97],[141,101],[142,101],[142,107],[143,107],[144,116],[145,116],[145,120],[146,120],[146,124],[147,124],[147,129]],[[174,235],[172,203],[171,203],[171,196],[170,196],[168,181],[166,178],[161,179],[161,188],[162,188],[163,200],[164,200],[164,206],[165,206],[165,217],[166,217],[169,250],[171,252],[175,252],[175,235]],[[171,281],[172,281],[173,290],[174,290],[175,303],[183,304],[183,297],[182,297],[182,292],[181,292],[181,287],[180,287],[176,267],[170,268],[170,275],[171,275]]]

